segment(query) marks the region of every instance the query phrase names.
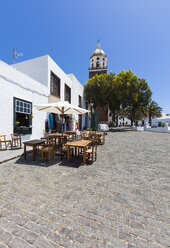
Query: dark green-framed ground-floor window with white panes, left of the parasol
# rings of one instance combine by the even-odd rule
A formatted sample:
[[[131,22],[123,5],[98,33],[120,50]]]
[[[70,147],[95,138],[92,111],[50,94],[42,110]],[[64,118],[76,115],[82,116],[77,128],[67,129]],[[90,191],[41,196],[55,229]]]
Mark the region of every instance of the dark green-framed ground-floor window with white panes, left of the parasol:
[[[32,133],[32,103],[14,97],[14,133]]]

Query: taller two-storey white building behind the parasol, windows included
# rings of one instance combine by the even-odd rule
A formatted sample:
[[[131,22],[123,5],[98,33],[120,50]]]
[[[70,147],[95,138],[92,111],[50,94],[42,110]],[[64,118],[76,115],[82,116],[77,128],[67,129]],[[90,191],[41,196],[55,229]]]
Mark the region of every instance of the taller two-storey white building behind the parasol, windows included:
[[[65,100],[73,105],[85,107],[83,85],[74,74],[67,75],[48,55],[17,63],[12,66],[46,86],[49,102]],[[88,127],[88,118],[86,118],[86,116],[65,116],[67,127],[71,122],[74,128],[76,121],[79,123],[80,130]],[[53,114],[53,120],[54,129],[58,129],[58,115]]]

